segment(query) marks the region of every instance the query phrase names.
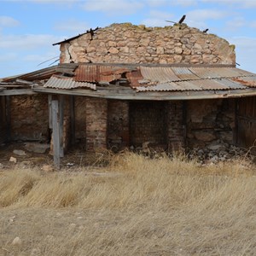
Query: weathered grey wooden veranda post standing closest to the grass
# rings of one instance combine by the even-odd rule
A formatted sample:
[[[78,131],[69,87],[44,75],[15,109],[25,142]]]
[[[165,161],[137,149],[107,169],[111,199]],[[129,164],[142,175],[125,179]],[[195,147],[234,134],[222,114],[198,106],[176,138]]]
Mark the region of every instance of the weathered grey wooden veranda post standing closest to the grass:
[[[60,123],[58,120],[59,102],[51,102],[51,114],[52,114],[52,134],[53,134],[53,149],[54,149],[54,164],[55,167],[60,169]]]

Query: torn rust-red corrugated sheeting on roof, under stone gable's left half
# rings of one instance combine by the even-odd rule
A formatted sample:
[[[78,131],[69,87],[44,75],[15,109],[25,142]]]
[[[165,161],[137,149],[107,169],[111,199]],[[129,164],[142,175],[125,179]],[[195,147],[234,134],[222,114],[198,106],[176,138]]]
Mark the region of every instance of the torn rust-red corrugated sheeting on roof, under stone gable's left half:
[[[131,69],[118,66],[79,65],[75,71],[77,82],[112,82],[122,77],[122,73]]]

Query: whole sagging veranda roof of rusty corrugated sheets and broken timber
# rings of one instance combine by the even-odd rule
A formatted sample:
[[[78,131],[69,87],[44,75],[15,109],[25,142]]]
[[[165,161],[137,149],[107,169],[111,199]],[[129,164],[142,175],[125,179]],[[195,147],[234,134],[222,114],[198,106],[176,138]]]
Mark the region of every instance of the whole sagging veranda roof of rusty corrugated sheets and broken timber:
[[[140,96],[150,99],[154,93],[161,100],[164,92],[170,99],[177,92],[182,93],[184,99],[193,94],[211,97],[219,92],[230,97],[254,96],[256,74],[233,65],[68,63],[0,82],[2,89],[17,86],[45,93],[75,95],[79,92],[80,95],[84,91],[86,96],[98,93],[99,97],[114,95],[122,99],[125,95],[127,99],[140,99]]]

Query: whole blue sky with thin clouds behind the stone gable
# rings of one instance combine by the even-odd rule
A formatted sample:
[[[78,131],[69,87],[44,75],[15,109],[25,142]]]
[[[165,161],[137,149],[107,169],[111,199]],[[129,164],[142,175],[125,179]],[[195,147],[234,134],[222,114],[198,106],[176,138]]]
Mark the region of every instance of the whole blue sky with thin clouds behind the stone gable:
[[[179,20],[182,15],[187,15],[184,22],[189,26],[209,28],[236,44],[240,68],[256,73],[256,0],[0,2],[0,78],[49,67],[59,55],[59,46],[52,44],[87,29],[121,22],[170,26],[165,20]]]

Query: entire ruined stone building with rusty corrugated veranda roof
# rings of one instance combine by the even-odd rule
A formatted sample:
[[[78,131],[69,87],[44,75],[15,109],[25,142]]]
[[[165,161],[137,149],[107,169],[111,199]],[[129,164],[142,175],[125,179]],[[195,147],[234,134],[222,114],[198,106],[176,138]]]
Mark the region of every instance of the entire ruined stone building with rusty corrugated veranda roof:
[[[49,139],[54,100],[64,148],[250,147],[256,138],[256,74],[236,67],[223,38],[125,23],[56,44],[59,65],[2,80],[0,141]]]

